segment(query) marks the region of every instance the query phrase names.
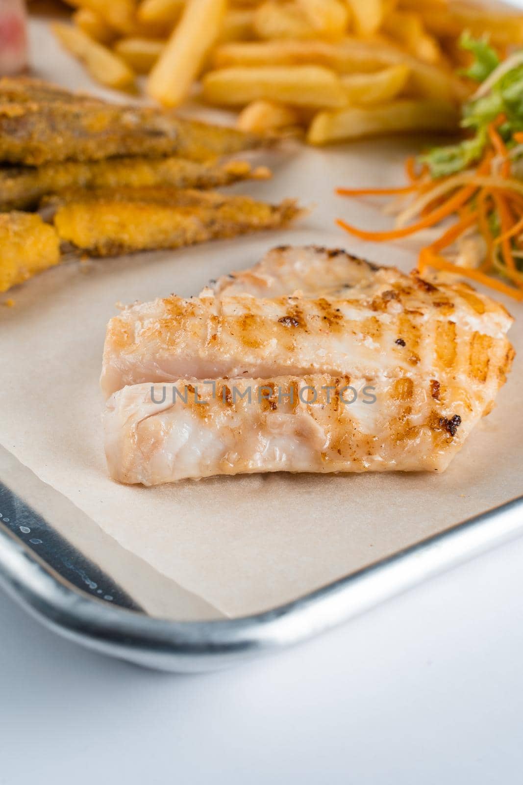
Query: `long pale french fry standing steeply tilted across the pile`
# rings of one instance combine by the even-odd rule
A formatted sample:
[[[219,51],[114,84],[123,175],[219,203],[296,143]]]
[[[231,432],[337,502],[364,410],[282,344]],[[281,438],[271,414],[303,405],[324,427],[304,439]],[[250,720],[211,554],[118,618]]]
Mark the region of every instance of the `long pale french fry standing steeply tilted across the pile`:
[[[191,0],[151,71],[149,95],[166,106],[182,103],[220,35],[225,9],[226,0]]]

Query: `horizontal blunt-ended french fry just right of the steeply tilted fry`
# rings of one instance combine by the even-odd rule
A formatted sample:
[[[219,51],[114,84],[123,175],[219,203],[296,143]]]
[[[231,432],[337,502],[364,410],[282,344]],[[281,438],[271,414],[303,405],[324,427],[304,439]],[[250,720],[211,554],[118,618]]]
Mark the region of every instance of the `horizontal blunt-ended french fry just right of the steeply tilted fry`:
[[[209,104],[242,106],[253,100],[274,100],[291,106],[341,108],[347,104],[340,79],[328,68],[223,68],[203,79]]]

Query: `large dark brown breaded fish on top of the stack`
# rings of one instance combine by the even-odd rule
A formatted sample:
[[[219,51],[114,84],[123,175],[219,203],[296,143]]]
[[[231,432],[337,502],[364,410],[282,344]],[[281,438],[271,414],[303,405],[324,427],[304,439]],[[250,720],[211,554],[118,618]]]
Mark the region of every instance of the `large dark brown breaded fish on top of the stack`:
[[[31,80],[0,82],[0,160],[40,166],[114,155],[181,155],[205,160],[267,144],[263,137],[210,126],[154,108],[117,106]],[[4,81],[5,85],[5,81]]]

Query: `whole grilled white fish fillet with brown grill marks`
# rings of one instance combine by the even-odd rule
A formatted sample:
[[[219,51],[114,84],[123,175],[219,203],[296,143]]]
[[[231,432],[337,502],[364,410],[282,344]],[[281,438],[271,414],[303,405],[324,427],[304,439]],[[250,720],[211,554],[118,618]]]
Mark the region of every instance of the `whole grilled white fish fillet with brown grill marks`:
[[[318,299],[315,282],[345,299]],[[442,471],[514,357],[502,305],[340,251],[274,249],[205,294],[136,304],[109,324],[102,386],[117,390],[105,415],[115,480]],[[332,363],[347,370],[317,372]]]

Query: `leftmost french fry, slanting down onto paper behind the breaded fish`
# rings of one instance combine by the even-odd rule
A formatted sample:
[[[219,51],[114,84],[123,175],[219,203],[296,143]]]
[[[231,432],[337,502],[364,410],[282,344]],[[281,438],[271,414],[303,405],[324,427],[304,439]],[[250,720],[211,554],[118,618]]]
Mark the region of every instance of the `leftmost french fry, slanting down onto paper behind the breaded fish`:
[[[93,41],[78,27],[55,22],[52,29],[62,46],[82,61],[97,82],[114,88],[128,88],[133,84],[133,71],[111,49]]]

